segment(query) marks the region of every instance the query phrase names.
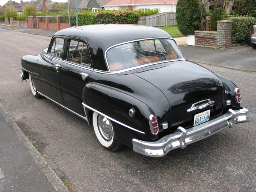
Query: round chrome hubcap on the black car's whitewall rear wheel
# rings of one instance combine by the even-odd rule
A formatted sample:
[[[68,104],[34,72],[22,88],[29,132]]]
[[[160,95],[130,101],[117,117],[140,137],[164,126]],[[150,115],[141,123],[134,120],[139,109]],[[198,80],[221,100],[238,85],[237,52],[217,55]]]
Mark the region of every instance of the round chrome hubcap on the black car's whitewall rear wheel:
[[[102,138],[109,141],[113,136],[113,127],[110,120],[102,115],[98,115],[98,129]]]

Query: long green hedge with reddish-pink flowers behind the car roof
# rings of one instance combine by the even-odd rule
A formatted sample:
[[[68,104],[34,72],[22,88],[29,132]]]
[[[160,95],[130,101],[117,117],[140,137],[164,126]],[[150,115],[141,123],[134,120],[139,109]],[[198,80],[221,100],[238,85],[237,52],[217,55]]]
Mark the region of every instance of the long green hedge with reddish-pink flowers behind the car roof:
[[[138,24],[139,14],[129,10],[104,10],[78,14],[78,25],[124,23]],[[71,16],[72,25],[76,25],[76,15]]]

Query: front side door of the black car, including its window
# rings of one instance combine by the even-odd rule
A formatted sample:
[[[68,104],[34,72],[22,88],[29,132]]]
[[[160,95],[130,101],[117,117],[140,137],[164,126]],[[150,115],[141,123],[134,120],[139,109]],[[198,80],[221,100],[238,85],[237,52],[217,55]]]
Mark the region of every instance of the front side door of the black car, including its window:
[[[64,105],[60,90],[60,65],[64,53],[64,37],[54,37],[48,52],[39,68],[39,76],[44,95],[53,101]]]

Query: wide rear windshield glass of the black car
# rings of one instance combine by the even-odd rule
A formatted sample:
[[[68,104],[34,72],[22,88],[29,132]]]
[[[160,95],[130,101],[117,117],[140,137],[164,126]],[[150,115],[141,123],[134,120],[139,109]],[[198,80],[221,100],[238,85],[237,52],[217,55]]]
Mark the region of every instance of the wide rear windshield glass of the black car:
[[[183,58],[172,39],[147,39],[114,46],[106,53],[110,71]]]

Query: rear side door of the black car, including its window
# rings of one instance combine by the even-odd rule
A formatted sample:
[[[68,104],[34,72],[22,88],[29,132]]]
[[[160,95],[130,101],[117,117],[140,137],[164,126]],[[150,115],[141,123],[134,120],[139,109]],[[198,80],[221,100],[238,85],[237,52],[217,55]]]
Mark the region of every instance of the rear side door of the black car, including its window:
[[[67,37],[66,60],[61,64],[60,81],[65,106],[83,117],[82,91],[90,81],[93,66],[86,41]]]

